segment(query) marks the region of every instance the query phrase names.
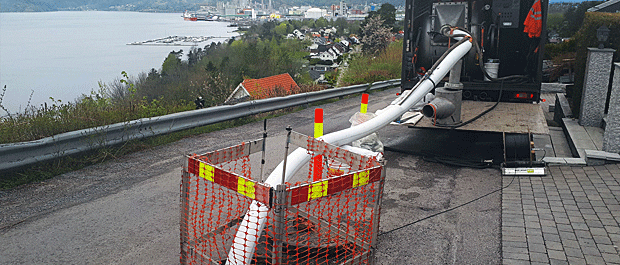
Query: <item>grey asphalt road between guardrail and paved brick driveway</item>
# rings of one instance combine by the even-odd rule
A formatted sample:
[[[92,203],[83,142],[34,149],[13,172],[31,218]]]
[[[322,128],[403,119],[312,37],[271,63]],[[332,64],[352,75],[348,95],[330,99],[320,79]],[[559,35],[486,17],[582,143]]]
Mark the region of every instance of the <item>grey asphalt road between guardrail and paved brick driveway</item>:
[[[398,89],[375,92],[369,111],[387,106]],[[325,133],[349,127],[360,97],[320,106]],[[266,172],[283,158],[287,125],[311,135],[309,108],[268,121]],[[455,136],[458,137],[453,137]],[[262,122],[188,137],[56,178],[0,192],[0,264],[176,264],[179,183],[184,156],[258,139]],[[498,264],[501,194],[390,232],[500,187],[498,169],[428,162],[403,152],[494,158],[493,135],[388,126],[377,262]],[[478,144],[472,144],[472,143]],[[400,152],[403,151],[403,152]]]

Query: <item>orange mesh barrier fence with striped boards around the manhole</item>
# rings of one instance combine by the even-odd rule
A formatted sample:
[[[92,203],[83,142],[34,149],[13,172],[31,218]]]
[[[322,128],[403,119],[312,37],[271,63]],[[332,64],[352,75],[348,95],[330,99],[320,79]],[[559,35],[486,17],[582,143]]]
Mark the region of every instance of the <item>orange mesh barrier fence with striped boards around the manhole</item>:
[[[306,181],[277,187],[250,178],[260,170],[251,167],[250,155],[261,151],[262,140],[188,157],[181,182],[182,264],[223,264],[253,201],[268,209],[253,256],[245,255],[253,264],[373,263],[382,162],[295,132],[290,142],[322,155],[325,165],[310,162]],[[317,168],[322,178],[313,181]],[[257,234],[251,232],[248,240]]]

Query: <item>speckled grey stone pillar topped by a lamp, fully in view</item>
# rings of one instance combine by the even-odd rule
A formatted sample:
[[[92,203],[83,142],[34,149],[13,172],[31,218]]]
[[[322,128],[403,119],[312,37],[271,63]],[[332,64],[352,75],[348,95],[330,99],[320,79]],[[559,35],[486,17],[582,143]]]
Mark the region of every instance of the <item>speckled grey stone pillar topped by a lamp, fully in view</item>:
[[[588,48],[579,124],[601,127],[611,75],[613,49]]]

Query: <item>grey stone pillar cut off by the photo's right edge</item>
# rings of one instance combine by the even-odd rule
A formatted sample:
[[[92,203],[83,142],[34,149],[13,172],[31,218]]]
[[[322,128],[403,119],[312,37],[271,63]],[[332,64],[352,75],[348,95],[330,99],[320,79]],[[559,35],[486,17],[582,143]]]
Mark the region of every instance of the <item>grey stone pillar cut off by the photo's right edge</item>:
[[[605,121],[605,133],[603,134],[603,151],[620,152],[620,63],[614,64],[614,78],[611,85],[609,110]]]

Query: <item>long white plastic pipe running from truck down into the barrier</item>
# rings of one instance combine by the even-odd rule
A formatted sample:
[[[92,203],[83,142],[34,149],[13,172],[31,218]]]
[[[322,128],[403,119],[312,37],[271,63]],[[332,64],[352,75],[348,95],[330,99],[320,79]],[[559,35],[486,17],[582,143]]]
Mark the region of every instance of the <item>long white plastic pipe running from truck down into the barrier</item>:
[[[462,30],[454,30],[454,35],[467,35],[469,34]],[[455,37],[460,40],[462,37]],[[389,106],[377,111],[377,116],[364,122],[358,126],[347,128],[341,131],[326,134],[319,139],[336,145],[341,146],[351,143],[355,140],[359,140],[367,135],[370,135],[384,126],[390,124],[390,122],[400,118],[405,112],[412,108],[416,103],[424,98],[434,87],[434,84],[439,83],[443,79],[450,69],[465,56],[472,47],[471,41],[466,41],[461,45],[455,47],[448,56],[437,66],[437,68],[427,77],[422,79],[416,86],[403,92],[396,100],[394,100]],[[430,81],[430,80],[432,81]],[[310,161],[312,156],[306,149],[297,148],[287,157],[285,181],[289,181],[291,176],[295,174],[301,167]],[[282,168],[284,162],[281,162],[269,175],[265,183],[271,187],[275,187],[281,184],[282,180]],[[233,246],[228,253],[228,259],[226,264],[251,264],[254,256],[254,248],[260,234],[262,233],[265,223],[267,221],[267,214],[269,208],[257,201],[252,202],[250,209],[246,213],[235,239],[233,240]]]

